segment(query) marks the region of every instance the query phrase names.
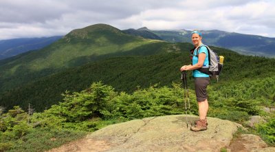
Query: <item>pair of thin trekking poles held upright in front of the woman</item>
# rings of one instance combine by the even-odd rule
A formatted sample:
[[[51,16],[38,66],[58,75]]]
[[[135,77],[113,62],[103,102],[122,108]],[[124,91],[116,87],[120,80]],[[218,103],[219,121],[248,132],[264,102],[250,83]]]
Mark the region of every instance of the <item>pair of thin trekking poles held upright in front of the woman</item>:
[[[185,113],[186,113],[186,126],[188,128],[187,111],[190,114],[190,99],[189,99],[189,92],[188,92],[188,85],[187,85],[187,78],[186,78],[185,70],[181,73],[181,80],[184,85],[184,105],[185,105]],[[188,107],[187,107],[186,100],[188,102]],[[192,123],[191,123],[191,126],[192,126]]]

